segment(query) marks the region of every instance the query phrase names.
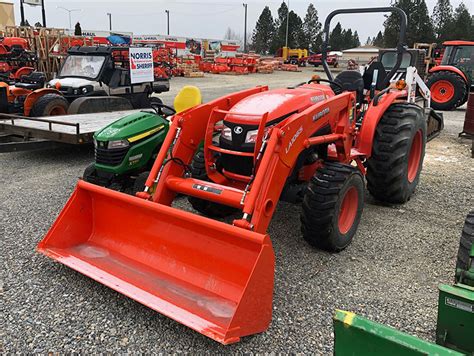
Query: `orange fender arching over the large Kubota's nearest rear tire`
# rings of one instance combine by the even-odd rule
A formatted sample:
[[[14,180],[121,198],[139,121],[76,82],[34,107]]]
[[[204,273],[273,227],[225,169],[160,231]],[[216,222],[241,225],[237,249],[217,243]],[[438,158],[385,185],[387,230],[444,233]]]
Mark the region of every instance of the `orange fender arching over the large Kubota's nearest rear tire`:
[[[407,92],[405,90],[392,91],[382,96],[377,105],[372,101],[365,112],[364,120],[356,139],[356,150],[358,154],[369,158],[372,155],[372,144],[375,130],[383,114],[390,105],[395,102],[406,102]],[[402,99],[403,98],[403,99]],[[400,100],[402,99],[402,100]]]

